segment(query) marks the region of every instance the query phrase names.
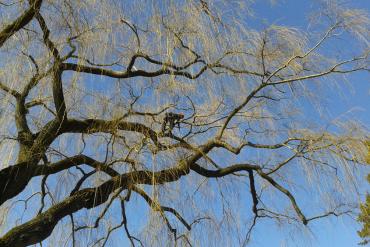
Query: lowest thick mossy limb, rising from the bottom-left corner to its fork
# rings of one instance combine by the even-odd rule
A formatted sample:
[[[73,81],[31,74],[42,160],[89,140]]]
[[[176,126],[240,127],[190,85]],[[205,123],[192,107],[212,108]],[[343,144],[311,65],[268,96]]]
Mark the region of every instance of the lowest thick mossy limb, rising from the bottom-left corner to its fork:
[[[135,184],[163,184],[176,181],[189,173],[188,165],[187,161],[182,161],[174,168],[154,173],[152,171],[130,172],[114,177],[96,188],[77,191],[31,221],[14,227],[0,238],[0,246],[14,247],[38,243],[51,234],[60,219],[82,208],[89,209],[101,205],[108,200],[113,191],[127,189]]]

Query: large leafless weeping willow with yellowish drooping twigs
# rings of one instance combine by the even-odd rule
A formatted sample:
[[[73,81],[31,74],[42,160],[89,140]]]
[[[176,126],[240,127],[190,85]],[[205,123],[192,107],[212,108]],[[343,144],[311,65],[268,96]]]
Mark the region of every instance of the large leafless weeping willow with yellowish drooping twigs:
[[[246,1],[0,5],[0,246],[245,245],[353,209],[366,128],[305,114],[369,71],[365,11],[328,1],[304,31]]]

